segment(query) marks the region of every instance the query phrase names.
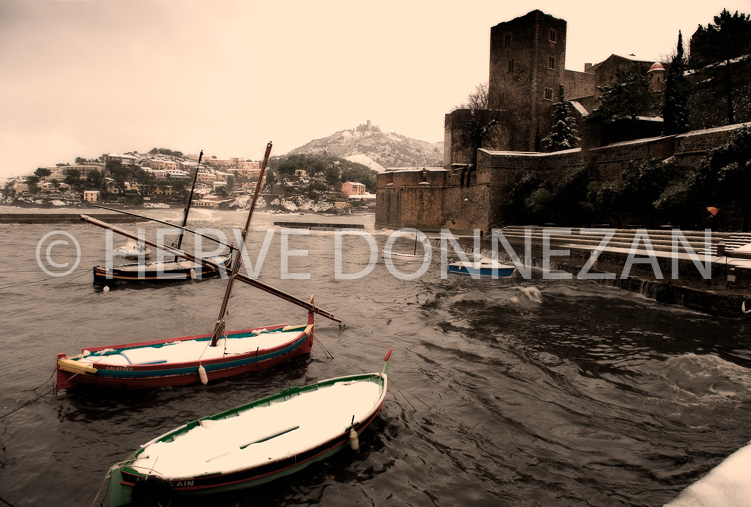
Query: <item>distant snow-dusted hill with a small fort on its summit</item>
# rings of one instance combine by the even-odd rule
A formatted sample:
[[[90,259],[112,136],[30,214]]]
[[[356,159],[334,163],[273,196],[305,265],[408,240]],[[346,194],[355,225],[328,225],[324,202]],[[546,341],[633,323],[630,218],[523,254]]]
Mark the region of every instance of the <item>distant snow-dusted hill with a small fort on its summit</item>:
[[[290,155],[320,153],[357,162],[378,172],[390,167],[443,166],[443,143],[383,133],[370,122],[316,139],[289,152]]]

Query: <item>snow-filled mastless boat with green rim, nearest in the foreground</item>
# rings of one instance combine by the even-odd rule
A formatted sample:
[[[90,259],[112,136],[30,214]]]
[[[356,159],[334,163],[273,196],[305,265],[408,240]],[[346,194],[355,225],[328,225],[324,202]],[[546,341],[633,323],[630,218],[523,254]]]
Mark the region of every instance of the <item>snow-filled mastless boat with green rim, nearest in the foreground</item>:
[[[380,373],[291,387],[151,440],[110,468],[110,507],[250,488],[357,449],[383,406],[390,356]]]

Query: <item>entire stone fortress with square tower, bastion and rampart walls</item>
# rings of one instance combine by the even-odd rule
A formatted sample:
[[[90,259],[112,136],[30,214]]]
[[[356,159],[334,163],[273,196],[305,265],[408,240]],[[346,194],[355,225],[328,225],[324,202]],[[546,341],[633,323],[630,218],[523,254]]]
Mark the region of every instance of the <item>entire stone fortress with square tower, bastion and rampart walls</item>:
[[[619,67],[647,74],[653,92],[662,94],[667,63],[611,55],[603,62],[585,64],[584,71],[578,72],[565,69],[565,59],[563,19],[534,10],[492,27],[488,107],[497,114],[497,124],[482,146],[468,146],[458,142],[461,132],[456,125],[461,122],[453,120],[470,111],[447,114],[442,168],[378,175],[376,226],[489,232],[507,225],[502,203],[519,172],[542,171],[554,178],[563,168],[591,164],[602,174],[618,177],[629,162],[652,157],[675,157],[683,166],[697,167],[706,152],[726,142],[734,130],[720,127],[721,118],[703,117],[703,123],[692,118],[692,128],[701,130],[661,136],[661,118],[640,118],[636,129],[620,137],[587,133],[582,122],[600,104],[598,87],[613,83]],[[581,148],[541,153],[540,140],[550,131],[551,108],[560,100],[559,85],[575,110]],[[744,116],[748,115],[739,115],[741,121],[751,119]]]

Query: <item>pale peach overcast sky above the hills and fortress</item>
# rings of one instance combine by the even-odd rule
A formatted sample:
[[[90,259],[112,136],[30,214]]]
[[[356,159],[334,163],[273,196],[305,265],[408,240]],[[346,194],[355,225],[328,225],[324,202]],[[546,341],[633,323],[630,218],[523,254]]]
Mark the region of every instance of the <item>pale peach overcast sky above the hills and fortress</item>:
[[[371,120],[443,140],[490,27],[568,22],[566,68],[651,60],[751,0],[0,0],[0,177],[154,147],[260,159]]]

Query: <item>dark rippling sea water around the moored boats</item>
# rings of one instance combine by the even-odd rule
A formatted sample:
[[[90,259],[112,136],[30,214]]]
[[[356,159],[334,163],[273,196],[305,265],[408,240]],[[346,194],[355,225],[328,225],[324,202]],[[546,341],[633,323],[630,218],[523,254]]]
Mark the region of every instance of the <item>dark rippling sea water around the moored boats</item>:
[[[182,215],[144,213],[173,222]],[[245,218],[195,210],[190,222],[231,237]],[[275,218],[253,217],[254,268]],[[380,249],[392,232],[376,230],[372,215],[293,218],[362,223]],[[119,227],[152,237],[159,226]],[[51,231],[80,246],[68,276],[50,276],[37,261],[37,252],[45,260],[39,243]],[[104,230],[1,225],[0,237],[0,504],[101,501],[108,468],[152,438],[290,386],[379,371],[389,349],[390,391],[359,451],[211,505],[661,505],[751,439],[749,321],[592,281],[442,277],[436,260],[408,280],[378,255],[367,275],[346,279],[336,276],[331,231],[298,231],[283,245],[275,229],[258,275],[300,299],[314,294],[343,320],[316,317],[325,350],[314,345],[307,358],[206,386],[55,396],[57,353],[211,332],[226,281],[100,292],[91,267],[106,259]],[[368,242],[340,239],[341,271],[364,272]],[[394,249],[411,252],[411,239],[403,241]],[[75,250],[51,252],[65,257],[56,263],[73,265]],[[227,325],[306,319],[305,310],[236,284]]]

